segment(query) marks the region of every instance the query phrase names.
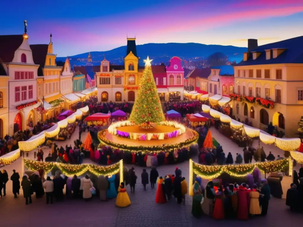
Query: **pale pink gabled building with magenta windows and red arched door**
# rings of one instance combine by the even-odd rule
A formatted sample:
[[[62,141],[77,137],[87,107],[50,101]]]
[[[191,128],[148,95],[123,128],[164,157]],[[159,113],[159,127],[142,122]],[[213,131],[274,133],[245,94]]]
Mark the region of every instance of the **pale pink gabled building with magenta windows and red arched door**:
[[[12,135],[18,130],[27,129],[31,122],[37,123],[34,109],[41,104],[37,101],[36,86],[39,65],[34,62],[26,27],[23,35],[1,35],[0,45],[1,64],[8,77],[10,94],[7,104],[8,118],[5,119],[8,128],[2,131]]]

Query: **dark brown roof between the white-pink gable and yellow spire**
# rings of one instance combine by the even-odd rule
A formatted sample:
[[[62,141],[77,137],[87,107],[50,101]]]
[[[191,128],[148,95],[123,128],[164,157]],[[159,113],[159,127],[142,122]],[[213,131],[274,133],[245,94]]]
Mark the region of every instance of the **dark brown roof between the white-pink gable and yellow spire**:
[[[29,45],[32,49],[34,63],[40,65],[38,68],[38,76],[43,76],[43,68],[48,50],[48,44],[33,44]]]

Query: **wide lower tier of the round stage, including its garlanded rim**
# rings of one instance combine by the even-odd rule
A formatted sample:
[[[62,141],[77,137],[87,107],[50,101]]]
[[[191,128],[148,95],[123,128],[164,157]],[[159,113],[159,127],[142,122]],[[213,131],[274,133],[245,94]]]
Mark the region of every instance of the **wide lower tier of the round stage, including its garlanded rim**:
[[[164,140],[130,140],[129,138],[113,135],[108,130],[102,130],[98,133],[98,138],[101,141],[101,145],[112,146],[113,148],[128,150],[130,152],[153,153],[169,152],[188,147],[191,143],[195,143],[198,140],[198,133],[186,128],[185,133],[182,133],[178,137]]]

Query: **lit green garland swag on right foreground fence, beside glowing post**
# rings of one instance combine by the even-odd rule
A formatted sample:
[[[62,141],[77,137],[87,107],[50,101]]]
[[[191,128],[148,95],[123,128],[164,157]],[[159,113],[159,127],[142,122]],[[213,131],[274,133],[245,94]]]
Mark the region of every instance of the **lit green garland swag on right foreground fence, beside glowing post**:
[[[240,165],[215,165],[206,166],[193,162],[193,172],[205,179],[214,179],[220,176],[222,173],[228,173],[234,177],[245,177],[249,173],[252,173],[255,168],[258,168],[262,173],[274,173],[281,172],[287,166],[291,159],[285,158],[281,160],[268,161],[268,162],[257,162],[250,164]]]

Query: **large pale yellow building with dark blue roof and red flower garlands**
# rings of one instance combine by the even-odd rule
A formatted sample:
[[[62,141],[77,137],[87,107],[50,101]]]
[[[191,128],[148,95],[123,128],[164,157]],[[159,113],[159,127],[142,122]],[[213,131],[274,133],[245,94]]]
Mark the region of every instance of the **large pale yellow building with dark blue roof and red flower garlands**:
[[[251,98],[234,101],[236,118],[262,130],[272,122],[286,137],[297,137],[303,115],[302,43],[303,36],[259,47],[257,40],[248,40],[248,52],[234,66],[234,90]]]

